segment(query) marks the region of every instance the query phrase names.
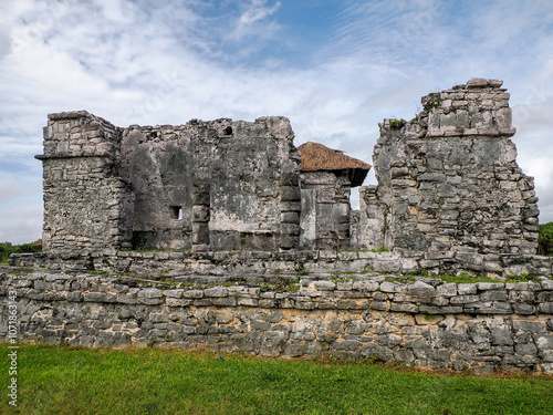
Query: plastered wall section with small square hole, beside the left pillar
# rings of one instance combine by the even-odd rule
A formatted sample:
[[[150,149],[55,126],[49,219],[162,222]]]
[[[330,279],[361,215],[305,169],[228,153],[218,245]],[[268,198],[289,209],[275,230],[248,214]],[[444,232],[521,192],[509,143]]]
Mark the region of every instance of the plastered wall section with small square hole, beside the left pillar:
[[[121,175],[135,195],[135,246],[298,247],[299,154],[293,138],[284,117],[125,128]]]

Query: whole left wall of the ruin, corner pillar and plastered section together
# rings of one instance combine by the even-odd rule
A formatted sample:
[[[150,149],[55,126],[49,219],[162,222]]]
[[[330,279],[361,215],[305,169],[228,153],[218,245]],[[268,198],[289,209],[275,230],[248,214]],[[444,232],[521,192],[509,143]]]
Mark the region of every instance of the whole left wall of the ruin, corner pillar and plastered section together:
[[[300,243],[288,118],[117,128],[74,112],[51,114],[44,137],[46,252]]]

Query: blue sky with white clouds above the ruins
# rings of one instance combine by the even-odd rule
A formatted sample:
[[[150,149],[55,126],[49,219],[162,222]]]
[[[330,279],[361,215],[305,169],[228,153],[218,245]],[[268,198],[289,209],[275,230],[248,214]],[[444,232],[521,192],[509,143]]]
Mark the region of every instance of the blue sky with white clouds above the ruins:
[[[519,164],[553,220],[550,0],[0,0],[0,241],[41,236],[49,113],[284,115],[296,145],[371,163],[379,121],[473,76],[504,80]]]

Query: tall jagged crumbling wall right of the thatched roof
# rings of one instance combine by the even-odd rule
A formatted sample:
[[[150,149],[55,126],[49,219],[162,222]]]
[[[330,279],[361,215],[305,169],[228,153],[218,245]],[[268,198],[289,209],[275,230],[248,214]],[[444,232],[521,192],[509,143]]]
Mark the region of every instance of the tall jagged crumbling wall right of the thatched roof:
[[[373,156],[378,187],[362,191],[372,219],[362,232],[390,249],[536,252],[538,198],[515,160],[501,84],[472,79],[422,97],[410,122],[385,120]]]

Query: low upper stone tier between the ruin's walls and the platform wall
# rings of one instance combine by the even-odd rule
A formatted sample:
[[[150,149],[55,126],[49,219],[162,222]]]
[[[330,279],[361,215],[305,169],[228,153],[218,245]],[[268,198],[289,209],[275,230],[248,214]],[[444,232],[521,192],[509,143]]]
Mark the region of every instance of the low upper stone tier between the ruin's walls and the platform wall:
[[[273,276],[305,272],[384,272],[395,274],[484,276],[497,280],[553,276],[553,258],[535,255],[482,255],[471,252],[372,251],[206,251],[81,253],[13,253],[10,264],[95,272],[137,274],[222,276],[257,273]]]

